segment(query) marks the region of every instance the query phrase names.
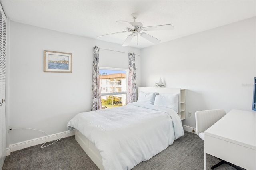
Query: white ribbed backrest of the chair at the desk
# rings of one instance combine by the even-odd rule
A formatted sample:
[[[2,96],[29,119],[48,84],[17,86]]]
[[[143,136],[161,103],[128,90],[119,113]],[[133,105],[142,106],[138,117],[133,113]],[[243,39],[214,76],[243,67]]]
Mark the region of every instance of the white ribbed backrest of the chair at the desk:
[[[211,127],[220,118],[226,115],[223,109],[197,111],[196,115],[196,134],[204,132],[206,129]]]

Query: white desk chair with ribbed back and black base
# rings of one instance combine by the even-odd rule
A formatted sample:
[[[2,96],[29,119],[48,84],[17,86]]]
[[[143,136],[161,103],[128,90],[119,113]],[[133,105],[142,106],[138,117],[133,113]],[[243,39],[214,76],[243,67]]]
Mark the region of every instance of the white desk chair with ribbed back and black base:
[[[223,109],[216,109],[216,110],[206,110],[206,111],[197,111],[196,112],[196,134],[204,140],[204,131],[211,127],[214,123],[220,120],[222,117],[226,115],[226,112]],[[242,170],[239,166],[221,160],[218,164],[212,166],[212,170],[217,166],[222,164],[229,164],[230,166]]]

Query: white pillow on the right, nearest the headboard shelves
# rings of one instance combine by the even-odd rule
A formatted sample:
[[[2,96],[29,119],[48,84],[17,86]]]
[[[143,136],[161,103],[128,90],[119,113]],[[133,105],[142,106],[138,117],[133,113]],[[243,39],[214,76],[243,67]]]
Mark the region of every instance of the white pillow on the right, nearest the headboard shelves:
[[[179,97],[178,93],[156,95],[155,105],[171,108],[172,110],[178,113],[178,108],[179,108],[178,97]]]

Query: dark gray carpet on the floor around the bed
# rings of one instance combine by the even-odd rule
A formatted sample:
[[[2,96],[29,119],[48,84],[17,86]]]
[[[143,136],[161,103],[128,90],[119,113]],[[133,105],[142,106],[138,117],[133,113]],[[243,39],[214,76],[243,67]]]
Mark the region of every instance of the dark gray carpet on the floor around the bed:
[[[48,142],[50,144],[51,142]],[[74,136],[63,138],[53,145],[40,148],[32,146],[6,156],[2,170],[98,170]],[[219,162],[207,154],[206,169]],[[204,166],[204,141],[196,134],[184,136],[150,160],[141,162],[132,170],[202,170]],[[215,170],[235,170],[223,164]]]

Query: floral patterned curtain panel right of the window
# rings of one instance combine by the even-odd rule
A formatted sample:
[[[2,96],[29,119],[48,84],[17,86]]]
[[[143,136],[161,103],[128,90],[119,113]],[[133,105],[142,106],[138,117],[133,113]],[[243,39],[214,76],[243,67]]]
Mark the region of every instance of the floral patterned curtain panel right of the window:
[[[129,55],[129,77],[128,77],[127,104],[137,101],[135,55],[134,53],[129,53],[128,55]]]

